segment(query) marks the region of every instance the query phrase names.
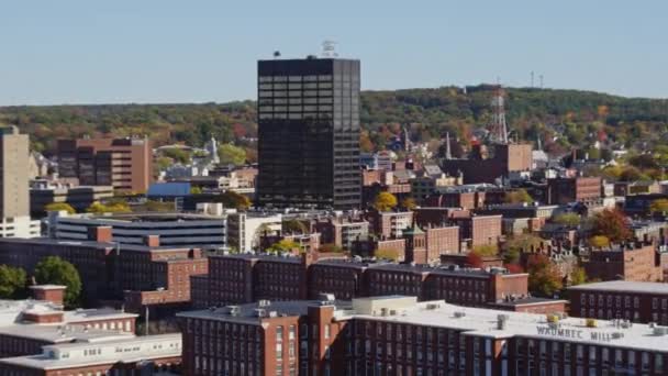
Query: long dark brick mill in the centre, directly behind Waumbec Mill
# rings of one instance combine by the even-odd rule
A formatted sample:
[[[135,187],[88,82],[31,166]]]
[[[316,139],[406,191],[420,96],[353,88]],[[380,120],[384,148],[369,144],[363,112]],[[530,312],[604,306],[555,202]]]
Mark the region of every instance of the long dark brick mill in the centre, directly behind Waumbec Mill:
[[[198,308],[266,300],[313,299],[321,294],[345,298],[413,295],[420,300],[447,299],[470,307],[505,303],[508,310],[564,311],[564,301],[528,299],[527,274],[503,268],[430,267],[352,258],[222,255],[210,257],[208,276],[193,277]],[[531,302],[530,306],[523,306]],[[560,307],[558,307],[560,305]],[[547,307],[547,306],[546,306]]]

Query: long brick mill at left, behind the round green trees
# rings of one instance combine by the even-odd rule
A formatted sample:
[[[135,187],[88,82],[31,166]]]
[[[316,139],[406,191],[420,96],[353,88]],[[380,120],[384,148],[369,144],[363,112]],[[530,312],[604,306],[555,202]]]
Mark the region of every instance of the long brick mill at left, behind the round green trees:
[[[111,243],[109,228],[94,228],[89,241],[54,239],[2,239],[0,264],[27,273],[48,256],[70,262],[79,272],[82,297],[90,303],[124,302],[138,311],[190,302],[190,276],[208,273],[208,259],[197,248],[159,245],[159,236],[146,236],[144,245]]]

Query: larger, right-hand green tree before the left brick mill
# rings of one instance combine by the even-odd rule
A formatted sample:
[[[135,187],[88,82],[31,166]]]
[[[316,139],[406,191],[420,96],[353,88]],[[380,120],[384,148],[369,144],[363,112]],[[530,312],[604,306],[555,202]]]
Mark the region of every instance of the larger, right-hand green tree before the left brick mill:
[[[77,268],[58,256],[43,258],[35,266],[35,279],[41,285],[63,285],[65,290],[65,306],[76,307],[81,294],[81,278]]]

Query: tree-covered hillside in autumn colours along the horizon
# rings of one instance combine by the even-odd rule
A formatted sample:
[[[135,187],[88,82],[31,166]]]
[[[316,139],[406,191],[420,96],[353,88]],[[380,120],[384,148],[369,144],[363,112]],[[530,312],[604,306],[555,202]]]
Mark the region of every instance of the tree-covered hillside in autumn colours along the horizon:
[[[365,150],[382,148],[401,125],[413,141],[447,131],[467,144],[490,119],[492,87],[365,91],[361,122]],[[548,151],[588,147],[594,141],[633,146],[666,136],[668,100],[623,98],[591,91],[506,89],[513,137],[541,137]],[[257,134],[255,102],[202,104],[102,104],[0,107],[0,123],[30,133],[33,148],[53,151],[55,140],[82,135],[148,135],[156,144],[199,145],[214,135],[250,150]],[[249,158],[253,159],[253,158]]]

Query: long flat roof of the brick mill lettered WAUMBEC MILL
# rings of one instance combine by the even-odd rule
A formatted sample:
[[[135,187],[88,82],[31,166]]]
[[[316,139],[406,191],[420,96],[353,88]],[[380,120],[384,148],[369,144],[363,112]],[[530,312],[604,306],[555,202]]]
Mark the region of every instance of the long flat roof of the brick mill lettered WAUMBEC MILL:
[[[622,321],[595,320],[594,327],[587,319],[564,318],[549,323],[545,314],[511,312],[482,308],[460,307],[443,300],[415,302],[415,298],[379,297],[348,301],[279,301],[258,307],[257,303],[238,307],[233,316],[230,308],[178,313],[186,318],[221,321],[241,321],[259,324],[256,309],[276,312],[276,317],[307,314],[312,306],[334,306],[334,320],[371,320],[419,327],[443,328],[492,339],[523,338],[546,341],[565,341],[592,345],[625,347],[638,351],[668,353],[668,335],[656,334],[647,324],[626,324]],[[355,309],[358,309],[356,311]],[[504,325],[499,325],[499,320]]]

